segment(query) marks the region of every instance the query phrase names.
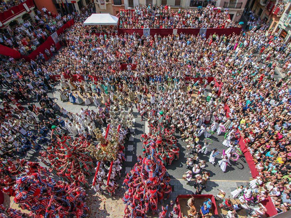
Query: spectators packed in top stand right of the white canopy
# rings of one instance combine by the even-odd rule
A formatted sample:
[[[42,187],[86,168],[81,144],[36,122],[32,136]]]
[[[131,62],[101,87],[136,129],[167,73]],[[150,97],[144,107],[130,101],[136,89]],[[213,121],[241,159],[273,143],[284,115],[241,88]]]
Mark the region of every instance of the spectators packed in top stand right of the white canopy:
[[[228,10],[221,11],[213,5],[203,9],[171,10],[171,6],[139,5],[121,10],[119,28],[231,28],[240,27],[230,20]]]

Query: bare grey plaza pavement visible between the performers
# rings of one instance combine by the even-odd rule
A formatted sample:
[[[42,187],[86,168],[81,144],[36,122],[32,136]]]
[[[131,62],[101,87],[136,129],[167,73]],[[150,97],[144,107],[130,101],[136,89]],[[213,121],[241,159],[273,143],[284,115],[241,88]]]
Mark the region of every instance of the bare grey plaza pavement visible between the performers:
[[[55,87],[57,90],[59,86]],[[205,93],[207,94],[207,93]],[[70,102],[62,102],[59,98],[59,92],[53,92],[49,94],[49,97],[52,97],[54,101],[56,101],[60,107],[66,108],[68,111],[73,113],[79,113],[81,107],[88,109],[96,109],[94,104],[90,106],[76,105],[71,104]],[[143,134],[147,127],[146,121],[141,121],[141,117],[137,113],[136,109],[134,109],[134,127],[132,128],[132,134],[129,141],[126,143],[126,161],[123,163],[123,169],[121,175],[124,177],[127,172],[131,170],[134,164],[137,161],[137,156],[142,154],[142,142],[140,141],[140,135]],[[181,194],[192,194],[195,193],[195,188],[192,186],[192,182],[189,185],[186,185],[186,182],[182,180],[182,175],[188,170],[186,168],[186,158],[189,156],[185,156],[186,151],[186,143],[181,140],[180,134],[176,132],[176,137],[178,139],[178,146],[180,147],[180,155],[178,160],[173,160],[172,165],[167,165],[167,171],[171,175],[171,186],[172,186],[172,194],[171,197],[166,200],[163,204],[166,205],[170,200],[175,200],[177,195]],[[218,136],[216,133],[210,137],[213,140],[213,144],[208,147],[208,150],[212,150],[213,148],[217,148],[221,153],[222,150],[225,149],[225,146],[222,145],[224,140],[224,136]],[[203,142],[203,138],[200,140]],[[200,142],[200,143],[201,143]],[[210,152],[208,152],[208,155]],[[249,178],[251,174],[249,172],[249,167],[245,161],[244,157],[240,157],[237,162],[231,160],[231,165],[227,167],[227,171],[225,173],[222,172],[220,167],[218,166],[218,160],[220,158],[216,158],[215,165],[212,165],[208,162],[208,155],[200,154],[200,160],[206,160],[206,167],[203,169],[210,173],[210,180],[207,182],[207,188],[203,191],[203,194],[213,194],[216,195],[218,193],[217,189],[222,189],[225,191],[226,196],[231,196],[230,192],[234,190],[239,185],[248,185]],[[218,156],[219,157],[219,156]],[[124,195],[124,188],[122,187],[122,182],[124,178],[118,180],[120,188],[116,191],[116,194],[113,197],[109,197],[107,195],[99,195],[93,193],[92,190],[88,191],[87,202],[90,207],[91,213],[90,218],[95,217],[110,217],[110,218],[118,218],[123,217],[124,207],[125,205],[122,202],[122,197]],[[89,178],[89,183],[92,183],[93,175]],[[161,205],[160,205],[161,207]],[[157,216],[152,216],[157,217]]]

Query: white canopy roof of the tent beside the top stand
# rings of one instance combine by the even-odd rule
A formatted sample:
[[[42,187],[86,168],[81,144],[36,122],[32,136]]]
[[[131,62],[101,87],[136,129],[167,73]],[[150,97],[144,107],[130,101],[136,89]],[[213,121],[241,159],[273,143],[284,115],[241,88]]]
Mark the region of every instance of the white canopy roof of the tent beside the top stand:
[[[118,18],[110,14],[92,14],[83,25],[117,25]]]

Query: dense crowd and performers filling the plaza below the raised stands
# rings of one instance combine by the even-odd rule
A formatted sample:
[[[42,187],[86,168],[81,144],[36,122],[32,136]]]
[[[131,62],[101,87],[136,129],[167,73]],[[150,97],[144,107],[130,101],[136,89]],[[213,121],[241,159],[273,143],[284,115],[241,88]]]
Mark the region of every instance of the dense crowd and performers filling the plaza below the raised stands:
[[[211,6],[206,9],[180,11],[177,16],[188,16],[189,13],[189,19],[193,21],[198,13],[199,16],[218,14],[213,8],[210,10]],[[2,57],[1,153],[25,157],[30,150],[36,154],[41,150],[39,161],[48,168],[37,173],[31,170],[36,166],[33,164],[18,170],[8,166],[7,172],[1,176],[3,191],[7,189],[5,193],[19,197],[23,209],[34,211],[34,214],[50,213],[57,217],[53,210],[60,208],[60,211],[85,216],[88,210],[83,203],[86,196],[83,187],[89,186],[86,175],[90,175],[90,169],[95,167],[93,158],[111,160],[108,153],[96,152],[101,145],[90,145],[100,139],[100,134],[96,134],[100,128],[108,123],[114,124],[110,126],[109,134],[106,134],[106,129],[101,134],[102,140],[109,137],[108,140],[116,143],[112,144],[116,148],[114,154],[110,153],[110,157],[115,157],[112,159],[112,173],[109,173],[108,162],[103,161],[93,186],[96,192],[101,192],[103,180],[108,177],[105,188],[113,194],[118,188],[116,179],[121,176],[121,163],[125,159],[124,141],[130,133],[126,126],[132,125],[131,112],[136,107],[142,120],[149,122],[150,133],[141,136],[143,157],[138,157],[135,167],[124,180],[126,217],[158,213],[157,202],[169,197],[171,186],[165,167],[179,157],[174,136],[176,130],[187,143],[186,149],[194,154],[186,163],[191,170],[183,178],[187,182],[195,179],[197,194],[202,193],[211,176],[203,170],[205,161],[200,161],[199,157],[210,155],[212,164],[220,157],[218,165],[225,172],[235,161],[233,155],[239,153],[238,140],[243,137],[258,173],[249,187],[238,187],[232,192],[233,197],[243,205],[249,205],[261,203],[269,196],[278,212],[290,209],[290,95],[286,83],[288,78],[279,82],[275,80],[276,61],[284,59],[283,64],[290,61],[285,59],[287,45],[281,38],[266,31],[267,25],[259,19],[252,19],[248,23],[252,28],[240,35],[213,34],[206,38],[205,35],[181,33],[145,37],[136,33],[117,35],[110,32],[96,36],[82,25],[89,12],[82,10],[80,15],[75,15],[76,24],[59,36],[67,46],[53,61],[46,62],[43,55],[30,62]],[[154,13],[153,17],[157,18],[165,15],[163,22],[171,10],[137,7],[135,12],[124,12],[124,21],[130,22],[131,16],[133,20],[139,20],[134,16]],[[155,13],[160,16],[155,16]],[[225,12],[217,15],[222,16],[222,22],[210,19],[201,24],[218,28],[225,15]],[[287,66],[288,75],[291,72]],[[62,101],[95,105],[96,110],[81,108],[80,113],[74,114],[54,103],[47,92],[52,90],[55,76],[60,78],[58,91]],[[206,99],[205,93],[208,94]],[[31,100],[36,100],[39,106],[28,103]],[[226,108],[229,108],[227,113]],[[113,129],[121,123],[121,132],[116,134]],[[210,150],[211,136],[215,132],[225,135],[222,143],[225,150]],[[44,150],[44,146],[48,147]],[[6,163],[11,164],[9,161],[14,160],[7,158]],[[63,182],[52,181],[49,172]],[[11,183],[16,175],[21,175],[20,180]],[[10,183],[22,185],[12,188]],[[37,194],[40,199],[45,196],[43,205],[39,203],[35,208],[30,204],[34,200],[23,198],[23,190],[29,193],[28,197],[34,196],[35,192],[29,192],[29,188],[40,190]],[[82,190],[80,195],[79,190]],[[64,201],[63,195],[69,200]],[[223,191],[219,196],[223,196]],[[74,200],[71,201],[71,197]],[[224,204],[228,204],[227,199]],[[77,206],[73,209],[72,205]],[[204,215],[209,209],[207,203],[205,205],[206,208],[201,207]],[[69,207],[71,210],[67,210]],[[167,209],[164,207],[159,216],[164,217]],[[175,207],[173,213],[178,213]],[[264,214],[266,211],[259,206],[252,216]]]

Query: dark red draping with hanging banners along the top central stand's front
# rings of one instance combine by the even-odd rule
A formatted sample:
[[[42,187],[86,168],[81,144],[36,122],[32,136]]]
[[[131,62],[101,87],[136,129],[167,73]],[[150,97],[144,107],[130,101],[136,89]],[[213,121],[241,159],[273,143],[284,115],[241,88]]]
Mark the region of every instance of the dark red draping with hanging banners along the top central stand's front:
[[[186,28],[181,28],[177,29],[177,34],[180,33],[185,33],[185,34],[193,34],[193,35],[198,35],[200,31],[200,28],[194,28],[194,29],[186,29]],[[242,31],[242,28],[240,27],[235,27],[235,28],[214,28],[214,29],[207,29],[206,31],[206,37],[208,38],[209,36],[212,36],[214,33],[217,35],[232,35],[233,33],[239,34]],[[144,35],[144,30],[143,29],[121,29],[118,28],[118,34],[132,34],[132,33],[139,33],[140,36]],[[167,36],[173,34],[173,29],[151,29],[150,30],[150,35],[154,36],[155,34],[161,35],[161,36]]]

